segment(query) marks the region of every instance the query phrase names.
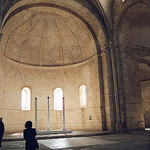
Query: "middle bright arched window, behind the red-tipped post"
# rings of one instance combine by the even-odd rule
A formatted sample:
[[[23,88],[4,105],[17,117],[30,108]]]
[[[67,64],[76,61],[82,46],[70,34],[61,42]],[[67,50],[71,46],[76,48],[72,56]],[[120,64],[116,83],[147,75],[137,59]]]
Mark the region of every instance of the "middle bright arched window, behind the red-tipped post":
[[[54,110],[62,110],[63,90],[56,88],[54,90]]]

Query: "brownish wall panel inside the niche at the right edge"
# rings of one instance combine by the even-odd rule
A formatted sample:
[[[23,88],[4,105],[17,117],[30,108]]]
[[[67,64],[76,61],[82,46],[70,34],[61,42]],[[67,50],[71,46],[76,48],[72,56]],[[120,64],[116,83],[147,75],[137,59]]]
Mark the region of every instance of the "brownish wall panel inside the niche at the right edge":
[[[141,82],[145,128],[150,128],[150,81]]]

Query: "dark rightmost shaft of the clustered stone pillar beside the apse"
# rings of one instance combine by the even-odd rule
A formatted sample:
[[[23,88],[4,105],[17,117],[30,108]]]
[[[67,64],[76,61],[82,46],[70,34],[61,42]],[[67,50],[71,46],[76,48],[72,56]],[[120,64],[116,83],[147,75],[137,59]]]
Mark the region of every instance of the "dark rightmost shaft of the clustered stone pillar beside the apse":
[[[111,45],[113,58],[115,63],[115,75],[116,75],[116,85],[115,91],[117,92],[117,112],[119,114],[118,118],[118,131],[126,131],[126,106],[125,106],[125,91],[124,91],[124,78],[123,78],[123,65],[121,60],[120,48],[117,45]]]

